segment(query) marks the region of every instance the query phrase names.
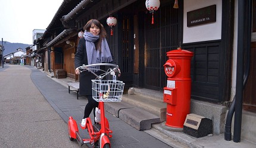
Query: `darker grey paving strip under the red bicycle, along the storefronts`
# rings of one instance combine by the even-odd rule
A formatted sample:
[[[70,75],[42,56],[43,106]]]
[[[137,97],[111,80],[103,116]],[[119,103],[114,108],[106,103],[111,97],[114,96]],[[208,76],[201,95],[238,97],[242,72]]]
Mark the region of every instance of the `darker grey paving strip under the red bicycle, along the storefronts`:
[[[67,82],[74,82],[74,80],[52,78],[52,74],[42,72],[42,69],[38,72],[33,70],[31,78],[42,95],[45,96],[49,104],[65,122],[68,121],[68,117],[72,116],[79,124],[83,117],[87,99],[85,96],[79,96],[79,99],[77,99],[76,92],[68,94]],[[170,147],[144,131],[136,130],[108,112],[105,112],[105,115],[110,123],[110,129],[113,130],[113,137],[110,139],[111,147]],[[93,112],[90,114],[90,118],[93,118]],[[79,133],[83,138],[88,136],[88,132],[81,130],[80,127]],[[62,140],[69,140],[68,134],[67,139]],[[76,140],[74,142],[77,143]],[[78,143],[77,147],[79,147]]]

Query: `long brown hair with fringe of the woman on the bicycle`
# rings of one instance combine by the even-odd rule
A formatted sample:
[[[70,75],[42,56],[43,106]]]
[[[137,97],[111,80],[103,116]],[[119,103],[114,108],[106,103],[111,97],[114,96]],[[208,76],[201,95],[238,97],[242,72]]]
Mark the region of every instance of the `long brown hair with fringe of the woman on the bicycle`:
[[[90,27],[92,26],[92,24],[96,25],[96,27],[99,27],[99,41],[97,44],[97,49],[99,49],[99,52],[101,52],[101,42],[102,39],[106,38],[107,33],[101,22],[95,19],[89,20],[83,27],[83,30],[90,32]]]

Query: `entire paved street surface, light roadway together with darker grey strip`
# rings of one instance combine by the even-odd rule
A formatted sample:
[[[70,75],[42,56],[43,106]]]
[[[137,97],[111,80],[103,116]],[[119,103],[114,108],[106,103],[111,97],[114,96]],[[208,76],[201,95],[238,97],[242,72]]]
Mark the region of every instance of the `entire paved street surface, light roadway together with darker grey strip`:
[[[65,86],[32,66],[5,65],[0,82],[0,147],[79,147],[68,139],[66,122],[69,116],[80,122],[85,97],[77,100],[75,93],[68,94]],[[108,112],[106,116],[112,147],[170,147]]]

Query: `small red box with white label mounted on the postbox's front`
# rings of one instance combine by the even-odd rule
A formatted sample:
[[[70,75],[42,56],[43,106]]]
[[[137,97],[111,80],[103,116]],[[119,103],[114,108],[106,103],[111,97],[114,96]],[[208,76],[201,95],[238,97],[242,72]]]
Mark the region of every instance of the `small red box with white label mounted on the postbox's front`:
[[[176,88],[164,88],[164,102],[167,102],[171,105],[176,105]]]

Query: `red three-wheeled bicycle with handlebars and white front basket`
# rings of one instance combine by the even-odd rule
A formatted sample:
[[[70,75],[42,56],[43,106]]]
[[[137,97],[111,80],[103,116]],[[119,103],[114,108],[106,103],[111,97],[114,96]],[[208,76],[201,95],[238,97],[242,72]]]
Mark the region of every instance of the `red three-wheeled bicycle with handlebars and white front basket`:
[[[88,67],[95,67],[95,66],[114,66],[115,68],[114,69],[111,69],[110,71],[107,70],[107,72],[104,73],[104,75],[96,75],[95,72],[93,72],[93,70],[95,70],[94,68],[89,69]],[[95,65],[83,65],[83,66],[80,66],[80,68],[83,70],[88,70],[90,72],[92,72],[96,78],[99,80],[99,81],[92,81],[92,83],[94,82],[95,83],[95,87],[99,87],[98,89],[96,89],[96,94],[98,94],[97,96],[95,96],[95,99],[96,101],[99,102],[99,110],[101,110],[101,121],[99,124],[96,124],[96,125],[93,125],[92,124],[92,121],[90,119],[90,117],[86,118],[86,125],[85,127],[82,127],[81,124],[80,124],[80,127],[82,128],[82,130],[85,130],[87,129],[88,130],[88,133],[89,133],[89,139],[82,139],[80,137],[80,134],[79,134],[79,130],[78,130],[78,127],[77,127],[77,123],[76,123],[76,120],[73,119],[73,117],[69,117],[69,120],[68,120],[68,134],[69,134],[69,137],[70,137],[70,140],[73,140],[73,139],[76,139],[80,145],[82,146],[83,144],[85,143],[90,143],[93,147],[95,146],[96,143],[98,143],[99,145],[96,146],[96,147],[110,147],[111,144],[110,144],[110,140],[109,138],[112,137],[111,133],[113,133],[112,130],[110,130],[109,128],[109,123],[108,123],[108,120],[107,118],[105,117],[105,109],[104,109],[104,99],[108,96],[106,96],[104,94],[104,92],[106,92],[106,90],[103,92],[101,90],[101,86],[107,86],[108,88],[108,93],[109,94],[118,94],[118,92],[120,91],[116,91],[117,89],[116,88],[110,88],[110,86],[114,87],[115,86],[115,83],[109,83],[107,81],[107,83],[104,83],[106,81],[102,81],[102,79],[108,75],[109,73],[113,72],[114,70],[118,70],[118,66],[117,65],[113,65],[113,64],[108,64],[108,63],[101,63],[101,64],[95,64]],[[100,69],[96,69],[96,70],[100,70]],[[93,84],[94,84],[93,83]],[[120,83],[117,83],[117,85],[119,86]],[[124,85],[123,82],[121,82],[121,85]],[[94,86],[94,85],[93,85]],[[110,91],[111,89],[111,91]],[[119,89],[119,88],[118,88]],[[123,94],[123,86],[121,87],[121,94],[118,94],[118,96],[116,96],[116,98],[120,99],[121,101],[121,98],[120,95]],[[98,92],[99,91],[99,92]],[[113,92],[112,92],[113,91]],[[104,96],[105,95],[105,96]],[[99,97],[99,98],[98,98]],[[103,101],[102,101],[103,100]],[[116,99],[113,99],[114,101],[116,101]],[[111,100],[112,102],[114,102],[113,100]],[[100,126],[100,128],[97,127]]]

